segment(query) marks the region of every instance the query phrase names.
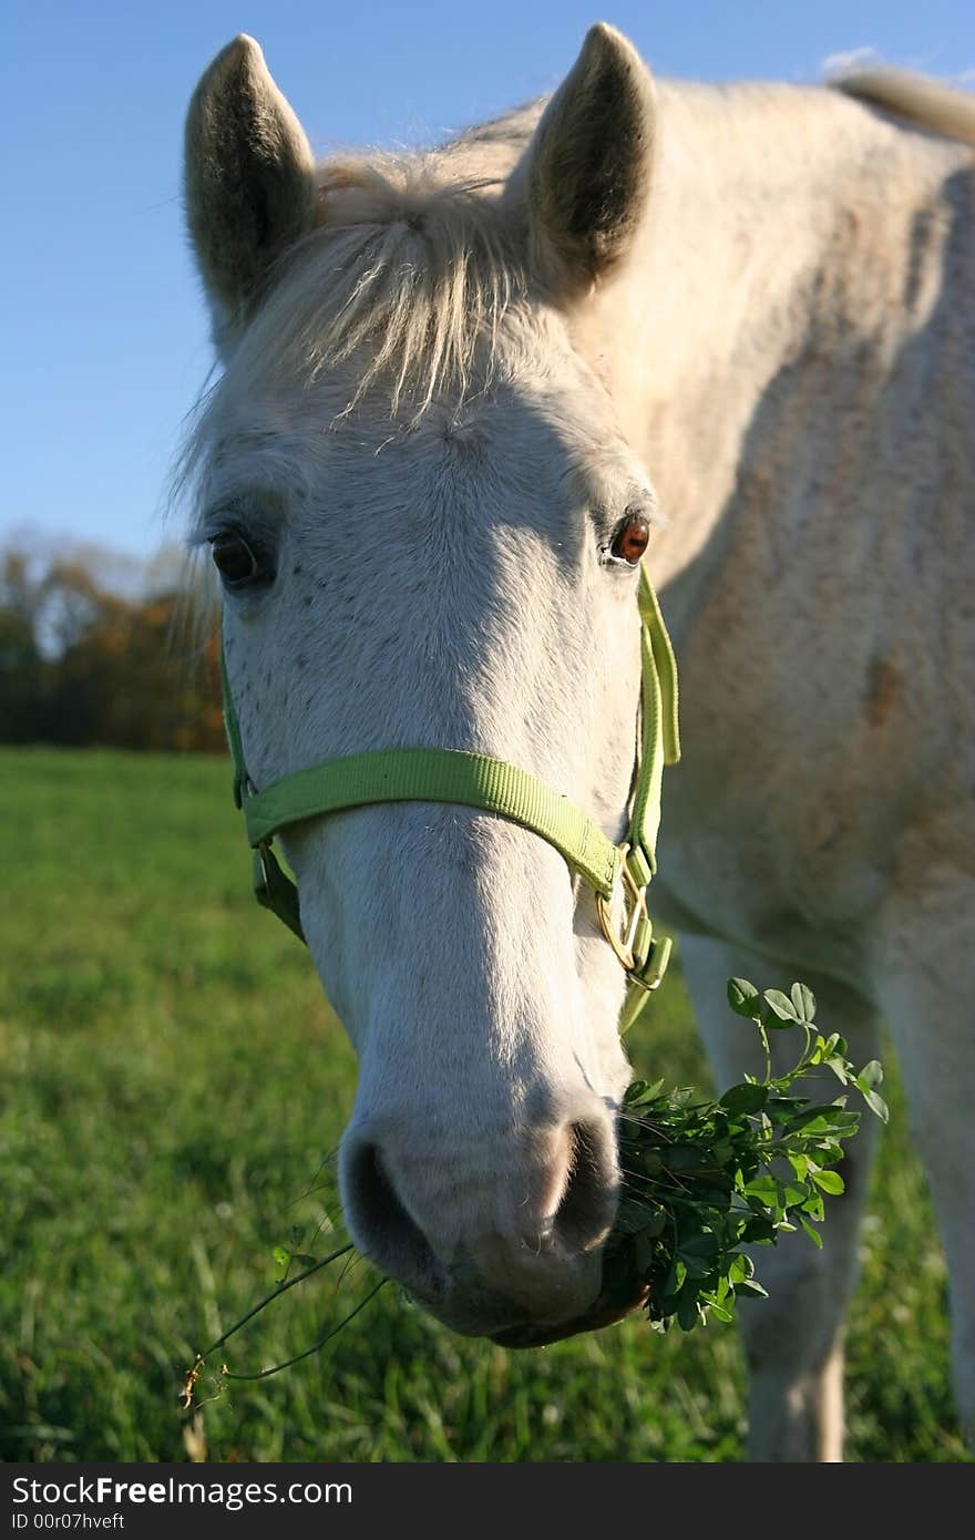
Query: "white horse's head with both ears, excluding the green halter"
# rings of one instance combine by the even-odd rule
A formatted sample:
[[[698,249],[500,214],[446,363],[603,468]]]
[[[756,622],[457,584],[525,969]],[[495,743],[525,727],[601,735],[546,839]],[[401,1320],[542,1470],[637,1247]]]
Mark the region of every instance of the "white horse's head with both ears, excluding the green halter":
[[[186,200],[223,374],[188,450],[193,537],[257,787],[468,750],[621,838],[656,497],[593,306],[645,228],[653,122],[605,26],[538,120],[430,156],[316,165],[246,37],[203,75]],[[360,1064],[354,1241],[456,1331],[601,1324],[628,1066],[593,893],[471,807],[345,810],[282,845]]]

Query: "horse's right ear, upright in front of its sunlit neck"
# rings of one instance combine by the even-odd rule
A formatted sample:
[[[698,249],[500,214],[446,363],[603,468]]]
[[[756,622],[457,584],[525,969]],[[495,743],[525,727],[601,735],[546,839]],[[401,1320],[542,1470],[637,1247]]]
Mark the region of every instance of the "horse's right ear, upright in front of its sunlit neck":
[[[555,294],[584,293],[625,259],[650,196],[655,129],[650,71],[621,32],[598,23],[516,174],[531,263]]]

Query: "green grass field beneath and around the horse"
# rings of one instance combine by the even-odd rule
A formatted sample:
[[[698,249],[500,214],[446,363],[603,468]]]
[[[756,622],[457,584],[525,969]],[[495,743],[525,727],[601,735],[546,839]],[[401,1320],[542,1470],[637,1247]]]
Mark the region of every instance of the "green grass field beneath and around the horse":
[[[273,1287],[274,1246],[293,1229],[296,1249],[334,1243],[327,1157],[354,1060],[307,953],[250,898],[225,762],[5,750],[0,804],[0,1457],[741,1458],[730,1327],[659,1338],[638,1317],[508,1354],[391,1286],[320,1355],[183,1421],[183,1369]],[[633,1053],[644,1073],[707,1083],[679,979]],[[896,1080],[890,1101],[849,1457],[964,1460],[944,1264]],[[293,1289],[228,1344],[230,1368],[299,1352],[371,1281],[357,1263]]]

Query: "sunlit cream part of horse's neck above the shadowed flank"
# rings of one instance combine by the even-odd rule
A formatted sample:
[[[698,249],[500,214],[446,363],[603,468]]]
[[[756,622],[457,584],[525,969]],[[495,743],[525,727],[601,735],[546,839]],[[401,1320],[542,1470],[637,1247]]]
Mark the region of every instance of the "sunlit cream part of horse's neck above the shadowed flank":
[[[970,149],[826,89],[664,83],[659,95],[644,242],[579,339],[604,360],[670,519],[656,578],[693,564],[707,581],[695,559],[741,511],[745,450],[759,479],[789,476],[772,464],[781,430],[762,444],[756,427],[770,385],[801,394],[815,377],[819,393],[863,402],[907,337],[950,323],[932,323],[953,225],[946,189]],[[829,431],[846,431],[841,416]],[[796,416],[796,440],[810,420]]]

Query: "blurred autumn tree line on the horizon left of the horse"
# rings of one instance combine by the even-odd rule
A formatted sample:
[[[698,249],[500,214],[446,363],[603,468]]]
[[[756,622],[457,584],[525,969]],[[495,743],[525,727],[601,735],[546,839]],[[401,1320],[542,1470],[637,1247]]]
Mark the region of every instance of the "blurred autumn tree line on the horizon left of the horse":
[[[216,613],[176,557],[0,551],[0,742],[225,750]]]

